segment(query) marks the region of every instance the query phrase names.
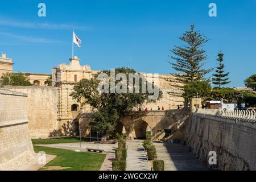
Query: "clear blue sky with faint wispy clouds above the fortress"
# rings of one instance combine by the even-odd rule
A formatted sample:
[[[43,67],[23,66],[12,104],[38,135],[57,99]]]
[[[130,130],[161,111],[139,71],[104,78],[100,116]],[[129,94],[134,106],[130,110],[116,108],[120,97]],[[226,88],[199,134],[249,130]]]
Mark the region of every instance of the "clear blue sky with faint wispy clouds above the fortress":
[[[46,3],[47,16],[38,16]],[[208,16],[210,2],[217,17]],[[87,1],[9,0],[0,6],[0,51],[14,60],[14,71],[51,73],[72,57],[72,31],[81,64],[92,69],[126,67],[139,72],[175,73],[167,61],[178,36],[195,24],[210,41],[206,67],[225,53],[228,86],[243,86],[256,73],[256,0]]]

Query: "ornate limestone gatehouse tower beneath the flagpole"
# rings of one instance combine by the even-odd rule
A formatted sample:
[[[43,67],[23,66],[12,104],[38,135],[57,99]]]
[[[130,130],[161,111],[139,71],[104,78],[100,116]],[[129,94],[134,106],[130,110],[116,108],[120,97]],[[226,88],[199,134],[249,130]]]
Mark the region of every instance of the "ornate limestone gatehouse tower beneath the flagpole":
[[[83,78],[92,78],[92,71],[89,65],[80,65],[80,59],[76,56],[69,59],[69,64],[59,64],[52,69],[52,85],[58,88],[58,121],[63,126],[64,134],[72,132],[73,124],[79,127],[76,121],[81,104],[72,99],[69,94],[73,86]]]

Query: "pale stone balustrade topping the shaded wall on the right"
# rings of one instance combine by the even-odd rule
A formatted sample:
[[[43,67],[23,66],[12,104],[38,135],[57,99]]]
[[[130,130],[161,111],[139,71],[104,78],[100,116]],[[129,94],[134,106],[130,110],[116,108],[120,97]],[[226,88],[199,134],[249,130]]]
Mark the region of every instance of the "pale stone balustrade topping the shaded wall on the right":
[[[251,110],[196,109],[193,114],[232,119],[236,120],[236,122],[256,122],[256,111]]]

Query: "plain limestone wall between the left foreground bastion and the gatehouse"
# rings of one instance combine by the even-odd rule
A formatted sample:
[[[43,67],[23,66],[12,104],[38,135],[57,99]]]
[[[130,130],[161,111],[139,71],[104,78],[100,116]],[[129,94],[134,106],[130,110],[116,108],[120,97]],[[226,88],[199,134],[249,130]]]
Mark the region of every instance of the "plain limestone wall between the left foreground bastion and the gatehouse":
[[[28,127],[31,138],[47,138],[57,125],[57,88],[53,86],[6,86],[27,94]]]

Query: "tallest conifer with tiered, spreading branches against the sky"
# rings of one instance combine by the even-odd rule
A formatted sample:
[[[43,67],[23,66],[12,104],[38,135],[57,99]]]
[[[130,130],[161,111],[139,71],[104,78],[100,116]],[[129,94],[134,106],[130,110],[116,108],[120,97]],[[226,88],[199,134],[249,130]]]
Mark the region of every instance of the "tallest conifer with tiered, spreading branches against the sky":
[[[186,31],[180,40],[186,43],[185,46],[175,46],[171,52],[174,56],[170,56],[176,63],[169,62],[176,71],[182,72],[177,74],[177,81],[184,84],[193,81],[202,80],[205,74],[212,71],[212,69],[204,69],[204,60],[207,59],[205,50],[201,47],[208,42],[208,38],[195,31],[195,26],[191,25],[191,30]]]

